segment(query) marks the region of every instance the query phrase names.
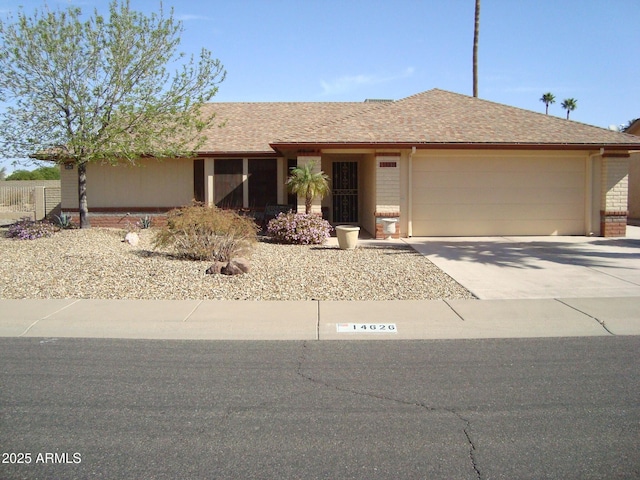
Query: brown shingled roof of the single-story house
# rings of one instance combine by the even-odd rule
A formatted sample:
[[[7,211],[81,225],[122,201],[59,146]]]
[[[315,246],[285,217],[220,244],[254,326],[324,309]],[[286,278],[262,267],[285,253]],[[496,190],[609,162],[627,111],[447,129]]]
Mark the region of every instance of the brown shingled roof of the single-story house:
[[[213,103],[225,126],[203,152],[291,146],[465,146],[640,149],[638,137],[444,90],[393,102]]]

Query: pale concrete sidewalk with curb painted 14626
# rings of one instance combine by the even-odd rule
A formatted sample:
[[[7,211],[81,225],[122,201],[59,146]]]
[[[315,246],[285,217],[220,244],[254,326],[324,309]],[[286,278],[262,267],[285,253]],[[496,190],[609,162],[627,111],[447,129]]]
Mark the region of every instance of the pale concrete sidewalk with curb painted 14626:
[[[0,300],[2,337],[409,340],[593,335],[640,335],[640,297],[382,302]]]

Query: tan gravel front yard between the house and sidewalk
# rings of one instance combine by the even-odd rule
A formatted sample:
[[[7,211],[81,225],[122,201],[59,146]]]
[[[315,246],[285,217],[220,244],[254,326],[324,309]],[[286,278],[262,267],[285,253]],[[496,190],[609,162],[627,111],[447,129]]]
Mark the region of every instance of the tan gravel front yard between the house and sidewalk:
[[[473,298],[411,247],[258,243],[251,271],[206,275],[211,262],[178,260],[115,229],[63,230],[13,240],[0,229],[0,298],[418,300]]]

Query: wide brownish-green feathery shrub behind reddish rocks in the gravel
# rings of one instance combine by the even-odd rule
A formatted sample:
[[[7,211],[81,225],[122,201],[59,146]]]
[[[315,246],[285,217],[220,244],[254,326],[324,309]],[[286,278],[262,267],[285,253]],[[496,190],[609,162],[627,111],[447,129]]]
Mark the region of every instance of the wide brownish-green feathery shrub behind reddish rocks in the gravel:
[[[171,210],[153,243],[156,248],[173,249],[180,258],[228,262],[254,246],[256,232],[252,218],[195,204]]]

